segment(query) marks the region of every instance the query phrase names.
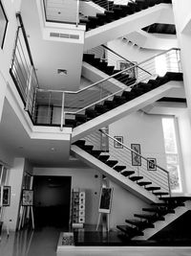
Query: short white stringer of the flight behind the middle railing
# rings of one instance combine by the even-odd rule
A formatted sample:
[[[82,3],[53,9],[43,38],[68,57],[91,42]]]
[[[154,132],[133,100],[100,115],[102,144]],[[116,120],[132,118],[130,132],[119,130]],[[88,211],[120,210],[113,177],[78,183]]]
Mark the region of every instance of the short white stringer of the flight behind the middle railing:
[[[111,87],[114,87],[115,85],[117,86],[118,90],[120,88],[121,89],[127,88],[127,86],[124,83],[117,81],[115,77],[113,79],[109,79],[110,78],[109,75],[107,75],[105,72],[99,70],[98,68],[94,67],[93,65],[85,61],[83,61],[83,64],[82,64],[82,76],[92,82],[108,79],[107,81],[108,85],[111,84]]]

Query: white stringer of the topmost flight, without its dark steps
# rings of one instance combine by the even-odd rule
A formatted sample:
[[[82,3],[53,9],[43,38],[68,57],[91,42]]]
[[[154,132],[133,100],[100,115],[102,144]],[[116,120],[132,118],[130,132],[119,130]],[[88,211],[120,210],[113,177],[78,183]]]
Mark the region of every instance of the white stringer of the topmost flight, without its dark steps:
[[[169,12],[169,16],[171,16],[172,5],[159,4],[88,31],[85,33],[84,51],[120,36],[138,31],[153,23],[162,23],[164,20],[162,12],[164,12],[165,16]]]

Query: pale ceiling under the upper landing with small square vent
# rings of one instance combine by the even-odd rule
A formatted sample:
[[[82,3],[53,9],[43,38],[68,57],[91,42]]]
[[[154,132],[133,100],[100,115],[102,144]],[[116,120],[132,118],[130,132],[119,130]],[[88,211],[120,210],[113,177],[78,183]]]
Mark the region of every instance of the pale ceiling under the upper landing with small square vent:
[[[80,85],[83,44],[45,40],[36,1],[22,1],[21,15],[41,88],[77,90]],[[58,74],[58,69],[66,70]]]

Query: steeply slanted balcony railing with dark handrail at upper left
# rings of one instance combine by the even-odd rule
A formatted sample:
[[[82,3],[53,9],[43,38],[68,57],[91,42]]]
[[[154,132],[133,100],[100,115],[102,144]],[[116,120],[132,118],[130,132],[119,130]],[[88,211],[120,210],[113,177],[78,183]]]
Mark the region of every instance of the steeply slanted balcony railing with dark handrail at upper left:
[[[39,88],[39,83],[21,14],[16,13],[16,17],[20,25],[16,32],[10,74],[25,105],[25,110],[32,117],[35,90]]]

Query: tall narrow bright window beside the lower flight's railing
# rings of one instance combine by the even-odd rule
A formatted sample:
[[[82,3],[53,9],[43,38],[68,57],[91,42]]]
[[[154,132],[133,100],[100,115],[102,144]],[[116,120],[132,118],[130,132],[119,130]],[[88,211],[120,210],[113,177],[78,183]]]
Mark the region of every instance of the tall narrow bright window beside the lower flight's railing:
[[[162,118],[162,128],[167,171],[170,175],[171,191],[174,193],[180,193],[182,191],[180,181],[180,160],[174,118]]]

